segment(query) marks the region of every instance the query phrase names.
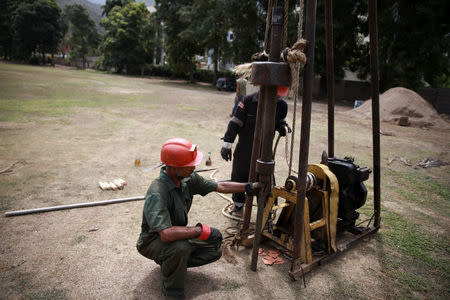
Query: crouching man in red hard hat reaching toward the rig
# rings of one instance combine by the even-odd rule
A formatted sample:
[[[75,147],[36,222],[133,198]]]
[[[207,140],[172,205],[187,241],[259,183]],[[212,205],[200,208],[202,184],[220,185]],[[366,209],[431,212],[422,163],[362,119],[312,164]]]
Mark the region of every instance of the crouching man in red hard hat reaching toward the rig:
[[[137,250],[161,266],[163,293],[184,298],[187,268],[212,263],[222,255],[219,230],[198,223],[187,226],[194,195],[253,193],[257,184],[216,183],[198,175],[195,166],[203,154],[186,139],[166,141],[161,149],[165,164],[147,191],[142,217],[142,231]]]

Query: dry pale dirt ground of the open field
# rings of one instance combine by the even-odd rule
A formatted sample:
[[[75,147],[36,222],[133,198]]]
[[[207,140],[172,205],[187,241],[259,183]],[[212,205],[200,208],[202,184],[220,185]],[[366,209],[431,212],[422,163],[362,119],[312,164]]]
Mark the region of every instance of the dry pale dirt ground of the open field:
[[[212,166],[219,169],[216,178],[229,178],[231,163],[220,157],[220,138],[229,120],[232,93],[163,79],[72,72],[75,71],[59,68],[33,68],[26,72],[1,70],[0,82],[8,79],[17,84],[15,95],[4,92],[2,101],[46,103],[45,99],[52,98],[44,91],[49,84],[60,90],[77,85],[58,99],[84,101],[80,105],[63,103],[48,111],[34,106],[25,109],[20,105],[0,110],[0,169],[21,160],[12,172],[0,174],[2,212],[143,196],[159,173],[158,169],[148,172],[144,169],[159,162],[162,143],[175,136],[190,139],[205,154],[211,152]],[[27,78],[31,78],[27,76],[33,76],[32,73],[34,81],[27,85]],[[40,76],[54,77],[40,82]],[[0,87],[5,88],[6,81],[3,82]],[[36,91],[42,96],[36,98]],[[292,124],[293,102],[288,102],[288,122]],[[20,116],[12,117],[14,109]],[[345,114],[349,109],[336,108],[336,156],[349,154],[360,165],[372,168],[370,120],[352,118]],[[301,106],[298,106],[297,144],[300,115]],[[313,104],[312,119],[310,162],[317,163],[322,150],[327,148],[326,104]],[[393,155],[420,161],[433,154],[441,160],[450,160],[448,129],[384,123],[381,127],[393,134],[382,136],[383,170]],[[280,183],[287,174],[284,143],[282,139],[276,156],[276,176]],[[293,165],[297,166],[298,146],[294,153]],[[134,166],[136,155],[141,158],[141,167]],[[398,162],[393,164],[400,169],[407,168]],[[429,172],[431,177],[448,176],[448,166],[423,172]],[[210,174],[202,173],[205,177]],[[128,185],[119,191],[99,189],[99,181],[115,178],[123,178]],[[445,180],[448,182],[448,177]],[[371,195],[372,178],[367,185]],[[386,200],[387,205],[393,203],[392,209],[412,214],[407,204],[383,193],[384,188],[382,201]],[[196,196],[189,223],[203,222],[225,231],[236,225],[221,212],[227,204],[215,193]],[[370,200],[367,205],[371,205]],[[162,299],[159,266],[139,255],[135,248],[142,206],[143,201],[135,201],[27,216],[1,216],[0,298]],[[441,220],[434,226],[435,230],[446,232],[448,211],[435,213],[435,217]],[[391,298],[390,286],[383,275],[383,249],[379,239],[367,238],[308,273],[304,287],[302,280],[292,281],[288,276],[288,261],[266,266],[259,259],[257,272],[251,271],[251,250],[240,248],[236,252],[237,265],[220,259],[189,269],[186,297]]]

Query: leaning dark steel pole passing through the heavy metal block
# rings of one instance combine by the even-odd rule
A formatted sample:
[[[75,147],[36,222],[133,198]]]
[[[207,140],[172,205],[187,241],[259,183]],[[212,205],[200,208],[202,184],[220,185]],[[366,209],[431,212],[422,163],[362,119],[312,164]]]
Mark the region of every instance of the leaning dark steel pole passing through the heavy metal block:
[[[272,9],[271,22],[270,62],[280,61],[282,29],[283,9],[281,7],[274,7]],[[262,125],[261,155],[256,163],[256,171],[259,175],[259,182],[261,183],[262,188],[258,196],[255,239],[253,241],[252,262],[250,267],[252,271],[256,271],[256,265],[258,263],[264,204],[272,189],[272,177],[275,164],[272,157],[272,145],[277,109],[277,87],[274,85],[265,85],[261,87],[260,91],[264,92],[264,98],[260,97],[259,100],[264,101],[264,115],[262,116],[264,122]]]

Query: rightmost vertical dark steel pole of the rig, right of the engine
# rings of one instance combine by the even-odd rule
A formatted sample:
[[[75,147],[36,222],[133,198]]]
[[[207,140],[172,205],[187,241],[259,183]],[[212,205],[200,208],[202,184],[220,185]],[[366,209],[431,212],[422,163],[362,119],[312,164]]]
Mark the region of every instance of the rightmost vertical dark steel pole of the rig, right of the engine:
[[[377,1],[369,0],[370,77],[372,93],[373,135],[373,208],[374,226],[380,227],[380,83],[378,74],[378,13]]]

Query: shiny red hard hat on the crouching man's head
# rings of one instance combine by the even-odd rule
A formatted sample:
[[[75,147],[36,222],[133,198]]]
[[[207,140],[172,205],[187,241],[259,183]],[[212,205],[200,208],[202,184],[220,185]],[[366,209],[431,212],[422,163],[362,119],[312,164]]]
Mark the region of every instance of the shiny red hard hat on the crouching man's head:
[[[202,159],[203,153],[197,151],[197,145],[183,138],[170,139],[161,149],[161,161],[170,167],[194,167]]]

